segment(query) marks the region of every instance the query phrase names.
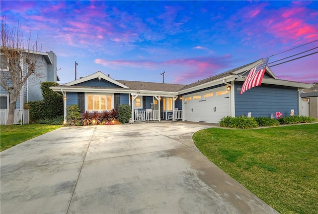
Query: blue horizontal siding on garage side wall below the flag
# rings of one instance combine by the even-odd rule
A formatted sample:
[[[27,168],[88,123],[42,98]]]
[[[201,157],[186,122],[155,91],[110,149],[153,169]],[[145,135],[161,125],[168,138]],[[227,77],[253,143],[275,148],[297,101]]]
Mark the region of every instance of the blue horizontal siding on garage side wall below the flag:
[[[294,109],[295,114],[298,114],[298,92],[295,87],[262,84],[240,95],[237,88],[241,87],[242,83],[235,82],[236,116],[252,112],[253,117],[270,117],[271,114],[275,116],[277,111],[289,116],[290,109]]]

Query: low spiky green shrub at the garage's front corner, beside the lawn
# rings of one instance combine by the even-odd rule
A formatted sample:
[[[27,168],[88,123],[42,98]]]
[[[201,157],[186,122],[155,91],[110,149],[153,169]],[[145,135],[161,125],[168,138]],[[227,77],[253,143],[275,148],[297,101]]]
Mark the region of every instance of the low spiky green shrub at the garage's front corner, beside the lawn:
[[[220,120],[219,125],[223,127],[228,127],[228,128],[241,128],[241,129],[256,128],[258,126],[254,117],[245,117],[245,116],[223,117]]]

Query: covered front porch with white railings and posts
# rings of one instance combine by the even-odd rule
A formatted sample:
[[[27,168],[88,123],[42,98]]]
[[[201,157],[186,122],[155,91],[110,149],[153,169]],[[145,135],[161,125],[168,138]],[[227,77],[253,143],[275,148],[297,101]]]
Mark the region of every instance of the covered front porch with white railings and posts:
[[[182,120],[182,97],[176,93],[131,94],[133,122]]]

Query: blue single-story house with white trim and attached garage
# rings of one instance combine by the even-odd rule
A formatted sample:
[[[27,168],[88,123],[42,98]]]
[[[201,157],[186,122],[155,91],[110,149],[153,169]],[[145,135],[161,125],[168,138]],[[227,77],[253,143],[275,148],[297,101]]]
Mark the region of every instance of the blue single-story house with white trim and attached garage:
[[[53,86],[64,95],[67,107],[76,104],[81,111],[102,111],[121,104],[132,107],[137,121],[182,119],[183,121],[218,123],[224,116],[247,115],[270,117],[276,111],[289,115],[299,112],[299,91],[311,84],[279,80],[266,67],[262,85],[242,95],[240,89],[248,71],[262,62],[241,66],[190,85],[114,80],[98,71],[73,82]]]

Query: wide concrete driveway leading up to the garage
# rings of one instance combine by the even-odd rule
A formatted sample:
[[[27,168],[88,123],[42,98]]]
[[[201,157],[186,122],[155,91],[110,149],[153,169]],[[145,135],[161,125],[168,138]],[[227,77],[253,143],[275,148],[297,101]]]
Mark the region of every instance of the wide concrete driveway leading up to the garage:
[[[63,127],[1,155],[1,214],[270,214],[206,159],[192,134],[211,124]]]

